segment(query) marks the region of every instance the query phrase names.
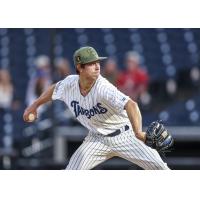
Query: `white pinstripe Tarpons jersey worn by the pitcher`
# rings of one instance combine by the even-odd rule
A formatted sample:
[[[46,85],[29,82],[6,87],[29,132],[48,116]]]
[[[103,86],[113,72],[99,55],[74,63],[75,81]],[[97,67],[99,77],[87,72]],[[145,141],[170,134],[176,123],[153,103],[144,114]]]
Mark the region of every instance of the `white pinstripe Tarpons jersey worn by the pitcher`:
[[[130,98],[101,75],[85,97],[80,93],[79,75],[67,76],[56,84],[52,99],[64,101],[90,132],[107,135],[130,124],[124,110]]]

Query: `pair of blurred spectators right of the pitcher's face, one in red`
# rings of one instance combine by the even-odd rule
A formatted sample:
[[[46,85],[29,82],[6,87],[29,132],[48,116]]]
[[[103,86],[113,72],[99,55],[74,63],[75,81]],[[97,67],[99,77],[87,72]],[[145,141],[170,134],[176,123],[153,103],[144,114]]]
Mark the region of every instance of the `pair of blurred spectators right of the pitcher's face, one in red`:
[[[114,58],[109,58],[103,66],[103,76],[113,83],[120,91],[143,105],[150,103],[148,94],[149,74],[145,66],[140,64],[140,55],[129,51],[125,54],[124,66],[119,70]]]

